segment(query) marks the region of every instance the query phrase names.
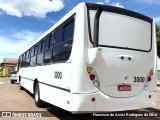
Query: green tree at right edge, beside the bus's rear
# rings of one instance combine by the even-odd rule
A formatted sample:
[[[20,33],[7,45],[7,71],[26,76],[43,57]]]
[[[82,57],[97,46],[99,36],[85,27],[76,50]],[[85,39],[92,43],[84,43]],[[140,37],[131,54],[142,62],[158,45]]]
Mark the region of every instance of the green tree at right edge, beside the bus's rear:
[[[157,54],[160,57],[160,26],[156,25]]]

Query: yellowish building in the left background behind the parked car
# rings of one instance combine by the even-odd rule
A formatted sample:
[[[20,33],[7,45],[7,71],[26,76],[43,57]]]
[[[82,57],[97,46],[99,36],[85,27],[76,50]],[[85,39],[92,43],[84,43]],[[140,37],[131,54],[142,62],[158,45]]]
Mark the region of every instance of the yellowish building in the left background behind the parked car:
[[[16,71],[17,62],[15,58],[4,58],[0,63],[0,76],[10,76],[10,72]]]

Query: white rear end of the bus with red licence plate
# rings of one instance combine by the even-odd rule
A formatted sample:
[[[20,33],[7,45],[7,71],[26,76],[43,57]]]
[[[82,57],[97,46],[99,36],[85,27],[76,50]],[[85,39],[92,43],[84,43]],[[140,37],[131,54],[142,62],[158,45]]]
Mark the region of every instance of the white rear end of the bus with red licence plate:
[[[157,50],[153,20],[116,7],[87,7],[91,43],[88,71],[99,89],[95,111],[155,106]]]

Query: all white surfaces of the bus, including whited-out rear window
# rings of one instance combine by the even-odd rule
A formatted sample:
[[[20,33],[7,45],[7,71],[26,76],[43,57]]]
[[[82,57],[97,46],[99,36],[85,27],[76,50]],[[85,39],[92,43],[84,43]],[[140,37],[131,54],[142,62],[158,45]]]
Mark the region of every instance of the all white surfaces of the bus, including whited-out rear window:
[[[154,23],[150,28],[151,26],[145,21],[109,12],[108,14],[103,12],[100,17],[100,44],[148,50],[151,45],[152,30],[150,52],[108,47],[93,48],[89,40],[87,8],[84,3],[71,10],[45,34],[54,30],[73,14],[76,14],[76,18],[69,60],[65,63],[20,68],[18,75],[23,77],[21,85],[33,93],[34,80],[37,79],[38,82],[70,90],[68,92],[39,83],[42,100],[71,112],[121,111],[155,106],[157,55]],[[95,11],[91,11],[92,35],[94,16]],[[121,24],[118,24],[117,21],[121,21]],[[112,22],[117,23],[115,25],[117,27],[113,27]],[[116,35],[115,28],[118,31]],[[115,41],[115,39],[117,40]],[[135,39],[141,41],[134,42]],[[124,56],[124,60],[121,60],[121,56]],[[130,61],[128,57],[131,57]],[[99,88],[95,87],[89,78],[87,72],[89,66],[96,72],[96,79],[100,83]],[[144,83],[133,82],[134,76],[144,76],[147,80],[151,69],[153,69],[154,75],[151,77],[152,80],[148,83],[148,87],[145,87]],[[63,73],[62,79],[54,78],[55,71]],[[124,76],[128,77],[126,81]],[[131,85],[132,91],[118,91],[119,84]],[[149,95],[152,97],[149,98]],[[94,102],[91,101],[92,98],[95,98]],[[70,101],[70,104],[67,104],[67,101]]]

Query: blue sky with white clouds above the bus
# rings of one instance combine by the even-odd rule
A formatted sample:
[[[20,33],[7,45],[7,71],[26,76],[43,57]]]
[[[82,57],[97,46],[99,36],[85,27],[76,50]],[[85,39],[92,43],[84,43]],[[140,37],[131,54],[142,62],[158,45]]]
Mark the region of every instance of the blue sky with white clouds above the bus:
[[[0,62],[18,58],[80,2],[129,9],[153,18],[160,26],[160,0],[0,0]]]

